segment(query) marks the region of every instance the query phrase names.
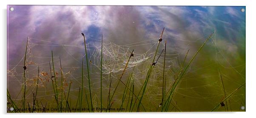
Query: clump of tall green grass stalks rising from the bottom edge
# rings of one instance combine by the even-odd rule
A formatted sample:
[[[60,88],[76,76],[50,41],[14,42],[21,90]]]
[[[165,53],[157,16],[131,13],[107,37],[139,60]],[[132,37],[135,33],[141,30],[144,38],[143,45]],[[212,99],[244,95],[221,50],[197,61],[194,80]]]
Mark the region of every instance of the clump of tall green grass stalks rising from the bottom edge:
[[[106,91],[107,93],[105,94],[108,94],[107,96],[107,99],[106,99],[106,108],[108,110],[105,110],[105,111],[102,111],[102,108],[104,107],[104,104],[103,102],[103,96],[102,96],[102,92],[104,93],[104,91],[102,91],[102,78],[103,78],[103,74],[102,74],[102,64],[104,63],[103,62],[103,53],[102,53],[102,49],[103,49],[103,35],[101,35],[101,59],[100,59],[100,97],[99,96],[95,96],[95,101],[97,102],[97,104],[93,104],[93,100],[92,100],[92,91],[91,91],[91,78],[90,78],[90,72],[89,72],[89,65],[88,65],[88,55],[87,54],[87,48],[86,48],[86,41],[85,41],[85,35],[82,33],[82,36],[83,36],[83,40],[84,40],[84,48],[85,48],[85,58],[83,57],[82,58],[82,81],[81,81],[81,85],[79,87],[79,91],[78,91],[78,95],[77,95],[77,98],[75,98],[74,103],[72,103],[71,99],[70,99],[70,92],[72,91],[71,89],[71,83],[72,83],[72,80],[70,80],[69,82],[69,88],[68,88],[68,91],[65,91],[65,89],[63,88],[63,84],[64,84],[64,87],[65,86],[68,86],[68,84],[66,83],[63,83],[65,82],[64,80],[64,76],[65,76],[65,73],[63,72],[63,68],[65,67],[62,67],[62,63],[61,63],[61,58],[59,57],[60,59],[60,71],[61,71],[61,85],[60,85],[60,82],[59,82],[59,86],[58,87],[58,82],[57,82],[57,74],[56,74],[56,67],[54,67],[54,55],[53,55],[53,51],[51,51],[51,62],[49,61],[49,67],[50,67],[50,73],[51,73],[51,86],[53,88],[53,91],[54,91],[54,106],[55,106],[55,102],[56,102],[56,107],[58,109],[57,112],[64,112],[64,108],[65,108],[65,112],[82,112],[82,105],[85,105],[87,104],[87,107],[88,107],[88,112],[94,112],[94,106],[95,107],[99,107],[101,108],[100,112],[110,112],[110,108],[112,107],[113,104],[117,104],[116,106],[118,106],[119,110],[117,110],[117,112],[134,112],[134,111],[137,111],[137,112],[140,112],[140,111],[147,111],[145,109],[145,107],[143,106],[142,103],[145,103],[145,97],[146,97],[146,94],[147,94],[147,87],[150,85],[148,84],[149,82],[149,79],[152,78],[152,73],[154,72],[154,67],[156,66],[156,64],[158,64],[158,60],[160,58],[160,56],[164,56],[164,60],[163,60],[163,70],[162,70],[162,73],[161,73],[161,78],[160,78],[160,84],[161,85],[161,90],[159,90],[161,93],[160,95],[161,98],[159,98],[159,102],[160,104],[158,106],[150,106],[150,110],[151,108],[157,108],[156,109],[156,112],[159,110],[161,112],[168,112],[168,111],[173,111],[175,109],[175,111],[180,111],[179,107],[176,107],[177,106],[177,102],[175,103],[173,98],[174,98],[174,93],[176,91],[176,88],[177,86],[179,85],[180,83],[180,80],[182,80],[182,77],[184,76],[184,74],[186,73],[186,71],[188,70],[188,68],[191,66],[191,63],[193,62],[193,60],[196,58],[196,56],[198,55],[198,53],[202,50],[202,48],[205,46],[205,44],[207,43],[208,40],[210,40],[210,38],[212,37],[213,33],[211,33],[208,38],[204,41],[204,43],[201,45],[201,47],[199,47],[199,49],[197,49],[196,53],[193,55],[193,57],[191,58],[191,60],[188,62],[187,65],[185,65],[185,60],[187,59],[187,55],[188,55],[188,52],[189,52],[189,49],[185,55],[185,58],[183,60],[183,63],[181,64],[182,68],[180,68],[178,71],[178,75],[177,77],[175,78],[175,81],[171,83],[171,87],[170,88],[167,88],[167,77],[166,77],[166,74],[168,73],[168,68],[165,66],[169,66],[167,65],[167,61],[168,61],[168,57],[167,57],[167,61],[166,61],[166,55],[167,55],[167,50],[166,50],[166,47],[167,47],[167,41],[165,41],[165,44],[164,44],[164,49],[162,49],[162,51],[159,49],[160,48],[160,43],[162,42],[162,35],[164,33],[164,30],[165,28],[163,28],[162,30],[162,33],[160,35],[160,38],[158,39],[158,42],[155,42],[155,43],[158,43],[157,44],[157,47],[155,49],[155,51],[152,53],[152,57],[153,57],[153,61],[151,64],[148,65],[148,68],[146,68],[146,76],[145,76],[145,80],[143,80],[143,84],[141,86],[139,86],[138,90],[135,88],[137,86],[136,85],[136,82],[134,83],[134,80],[135,80],[135,74],[137,75],[136,72],[134,72],[134,69],[135,69],[135,66],[133,67],[132,71],[127,74],[129,75],[128,78],[126,78],[126,82],[122,80],[123,77],[125,77],[125,73],[127,73],[127,68],[128,68],[128,64],[131,60],[131,58],[134,56],[134,50],[132,50],[130,56],[127,56],[127,59],[125,59],[125,63],[124,64],[124,69],[122,70],[122,73],[120,72],[120,76],[117,77],[117,85],[114,86],[114,89],[113,91],[111,91],[111,87],[112,87],[112,81],[113,81],[113,78],[115,78],[112,74],[112,65],[110,66],[110,72],[109,72],[109,81],[108,81],[108,91]],[[20,93],[22,94],[23,93],[23,96],[21,95],[21,101],[20,101],[20,104],[19,103],[16,103],[13,101],[13,98],[11,97],[11,95],[9,94],[9,91],[7,89],[7,100],[8,100],[8,107],[13,107],[15,109],[18,109],[18,107],[23,107],[23,109],[26,109],[26,107],[28,108],[32,108],[32,110],[30,110],[29,112],[32,112],[34,113],[35,112],[35,108],[39,108],[39,105],[38,105],[38,102],[40,103],[41,102],[41,106],[42,107],[46,107],[47,103],[46,104],[43,104],[42,103],[42,100],[41,101],[38,101],[37,98],[37,94],[38,94],[38,85],[39,85],[39,79],[40,79],[40,76],[39,76],[39,72],[40,72],[40,68],[42,66],[40,66],[39,68],[39,65],[38,65],[38,74],[37,74],[37,81],[34,80],[34,82],[37,84],[36,85],[36,89],[35,91],[33,90],[33,101],[31,100],[31,102],[33,102],[33,106],[31,106],[31,104],[29,104],[29,100],[27,99],[26,100],[26,92],[29,90],[26,90],[26,86],[28,84],[26,84],[26,55],[27,55],[27,48],[28,48],[28,39],[27,39],[27,44],[26,44],[26,51],[25,51],[25,58],[24,58],[24,66],[23,66],[23,79],[24,79],[24,93],[21,89]],[[163,53],[164,52],[164,53]],[[86,59],[86,67],[84,68],[84,59]],[[162,61],[162,60],[160,60]],[[91,62],[91,60],[90,60]],[[51,66],[52,64],[52,66]],[[159,63],[159,64],[162,64],[162,63]],[[55,65],[56,66],[56,65]],[[161,65],[162,66],[162,65]],[[144,68],[144,66],[143,66]],[[84,81],[84,69],[87,70],[87,75],[88,75],[88,88],[89,88],[89,94],[90,94],[90,103],[89,103],[89,100],[88,100],[88,97],[87,97],[87,94],[86,91],[87,91],[87,88],[85,87],[85,81]],[[92,69],[91,69],[92,70]],[[53,74],[52,74],[52,71],[53,71]],[[219,69],[218,69],[219,71]],[[64,74],[63,74],[64,73]],[[135,74],[134,74],[135,73]],[[144,74],[144,73],[142,73]],[[27,74],[28,75],[28,74]],[[222,74],[220,73],[219,71],[219,75],[220,75],[220,78],[221,78],[221,82],[222,82],[222,88],[223,88],[223,91],[224,91],[224,95],[225,95],[225,98],[222,99],[219,104],[217,104],[212,111],[215,111],[218,109],[218,107],[220,105],[222,105],[223,102],[225,102],[226,104],[226,110],[227,111],[232,111],[231,110],[231,107],[229,109],[228,107],[228,99],[230,98],[230,96],[232,96],[236,91],[238,91],[242,86],[245,85],[242,84],[241,86],[239,86],[239,88],[237,88],[235,91],[233,91],[232,93],[230,93],[228,96],[226,95],[226,91],[225,91],[225,86],[224,86],[224,83],[223,83],[223,80],[222,80]],[[80,80],[79,80],[80,81]],[[119,86],[119,83],[122,83],[125,88],[122,90],[122,93],[121,93],[121,99],[120,99],[120,102],[117,103],[115,102],[114,97],[117,96],[117,90],[118,90],[118,86]],[[65,85],[66,84],[66,85]],[[112,87],[113,88],[113,87]],[[59,90],[61,89],[61,90]],[[104,89],[103,89],[104,90]],[[66,96],[66,92],[68,92],[67,96]],[[63,96],[64,94],[64,96]],[[75,93],[77,94],[77,93]],[[94,94],[93,94],[94,96]],[[28,97],[28,94],[27,94],[27,97]],[[63,98],[64,97],[64,98]],[[144,97],[144,99],[143,99]],[[32,98],[31,98],[32,99]],[[99,102],[98,102],[98,99],[99,99]],[[160,101],[161,99],[161,101]],[[14,99],[15,100],[15,99]],[[94,103],[95,103],[94,101]],[[102,102],[103,101],[103,102]],[[30,103],[31,103],[30,102]],[[158,103],[159,103],[158,102]],[[230,102],[230,101],[229,101]],[[27,105],[26,105],[27,103]],[[157,104],[158,104],[157,103]],[[37,105],[36,105],[37,104]],[[72,109],[72,105],[75,106],[75,109],[73,110]],[[224,103],[223,103],[224,104]],[[50,103],[48,106],[52,105],[52,103]],[[144,104],[145,105],[145,104]],[[150,104],[151,105],[151,104]],[[230,105],[230,104],[229,104]],[[241,103],[242,105],[242,103]],[[241,106],[240,105],[240,106]],[[86,106],[86,105],[85,105]],[[173,106],[173,107],[171,107]],[[160,108],[161,107],[161,108]],[[123,108],[125,108],[125,110],[123,110]],[[71,110],[72,109],[72,110]],[[161,110],[162,109],[162,110]],[[170,110],[169,110],[170,109]],[[154,109],[155,110],[155,109]],[[8,112],[10,112],[8,110]],[[20,111],[18,109],[17,112],[25,112],[25,110],[23,111]]]

